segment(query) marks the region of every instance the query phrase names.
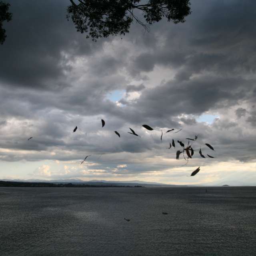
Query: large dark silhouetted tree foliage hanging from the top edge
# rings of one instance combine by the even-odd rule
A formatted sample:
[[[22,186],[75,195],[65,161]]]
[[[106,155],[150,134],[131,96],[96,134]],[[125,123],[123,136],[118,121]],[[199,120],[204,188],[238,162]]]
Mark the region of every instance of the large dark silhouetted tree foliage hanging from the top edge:
[[[73,20],[78,32],[87,33],[86,38],[108,37],[110,35],[125,35],[129,33],[130,25],[135,20],[145,30],[150,25],[166,18],[175,24],[185,22],[190,12],[189,0],[70,0],[67,9],[67,19]],[[141,12],[145,22],[142,22],[135,11]],[[139,14],[139,13],[138,13]]]

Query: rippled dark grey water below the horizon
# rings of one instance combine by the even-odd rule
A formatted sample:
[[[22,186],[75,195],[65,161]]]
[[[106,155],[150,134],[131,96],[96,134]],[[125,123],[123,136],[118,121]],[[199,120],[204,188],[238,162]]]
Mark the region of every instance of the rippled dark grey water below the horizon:
[[[1,256],[251,256],[255,242],[256,187],[0,188]]]

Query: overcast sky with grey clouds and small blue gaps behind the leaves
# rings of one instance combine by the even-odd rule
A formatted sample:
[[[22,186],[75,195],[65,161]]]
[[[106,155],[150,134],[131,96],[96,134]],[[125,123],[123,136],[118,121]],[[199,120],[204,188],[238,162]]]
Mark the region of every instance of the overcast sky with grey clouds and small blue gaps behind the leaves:
[[[0,179],[256,184],[256,2],[191,1],[183,24],[97,42],[66,20],[68,0],[8,2]],[[195,135],[192,160],[176,160],[177,140]]]

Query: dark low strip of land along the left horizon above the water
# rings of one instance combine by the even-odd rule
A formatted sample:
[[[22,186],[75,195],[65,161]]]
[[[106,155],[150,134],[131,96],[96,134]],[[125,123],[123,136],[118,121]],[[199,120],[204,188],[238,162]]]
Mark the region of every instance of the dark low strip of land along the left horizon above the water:
[[[118,186],[118,185],[90,185],[72,183],[48,183],[48,182],[14,182],[0,180],[0,187],[33,187],[33,188],[142,188],[142,186]]]

